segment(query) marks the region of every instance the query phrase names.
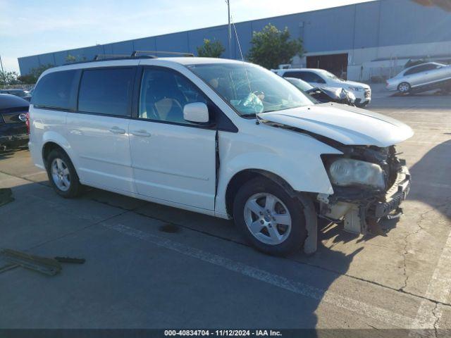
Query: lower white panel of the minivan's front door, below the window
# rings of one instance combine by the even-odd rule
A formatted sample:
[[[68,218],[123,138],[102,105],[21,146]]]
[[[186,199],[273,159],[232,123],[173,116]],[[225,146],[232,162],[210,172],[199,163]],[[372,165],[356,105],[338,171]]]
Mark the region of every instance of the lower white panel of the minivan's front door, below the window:
[[[150,136],[141,136],[143,133]],[[215,133],[215,130],[132,120],[130,151],[137,192],[214,210]]]

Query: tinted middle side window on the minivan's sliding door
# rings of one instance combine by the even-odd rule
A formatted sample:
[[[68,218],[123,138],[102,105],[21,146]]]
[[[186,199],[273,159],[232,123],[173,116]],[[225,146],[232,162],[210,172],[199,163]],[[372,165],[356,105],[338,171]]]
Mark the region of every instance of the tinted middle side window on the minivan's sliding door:
[[[85,70],[80,82],[78,111],[130,115],[135,68]]]

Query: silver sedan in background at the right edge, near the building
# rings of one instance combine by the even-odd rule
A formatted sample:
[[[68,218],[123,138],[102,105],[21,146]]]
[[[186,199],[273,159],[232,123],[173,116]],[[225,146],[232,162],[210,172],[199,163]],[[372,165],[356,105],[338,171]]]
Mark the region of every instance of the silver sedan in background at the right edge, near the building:
[[[402,70],[387,80],[388,90],[401,93],[424,92],[431,89],[451,89],[451,65],[428,62]]]

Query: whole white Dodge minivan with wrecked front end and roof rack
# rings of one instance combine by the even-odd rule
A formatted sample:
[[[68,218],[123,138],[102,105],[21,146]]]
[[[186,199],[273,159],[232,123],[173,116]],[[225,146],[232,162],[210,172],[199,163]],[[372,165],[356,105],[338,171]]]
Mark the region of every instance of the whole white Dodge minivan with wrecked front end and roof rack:
[[[129,58],[46,70],[30,106],[30,151],[56,193],[82,185],[233,218],[257,249],[316,248],[318,217],[371,232],[410,186],[384,115],[313,104],[257,65]]]

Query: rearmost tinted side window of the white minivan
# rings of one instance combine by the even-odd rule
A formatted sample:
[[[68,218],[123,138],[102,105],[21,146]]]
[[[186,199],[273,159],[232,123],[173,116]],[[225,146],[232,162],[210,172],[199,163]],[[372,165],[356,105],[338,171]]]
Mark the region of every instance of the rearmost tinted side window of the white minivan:
[[[33,92],[32,104],[37,108],[75,109],[76,74],[76,70],[66,70],[44,75]]]

